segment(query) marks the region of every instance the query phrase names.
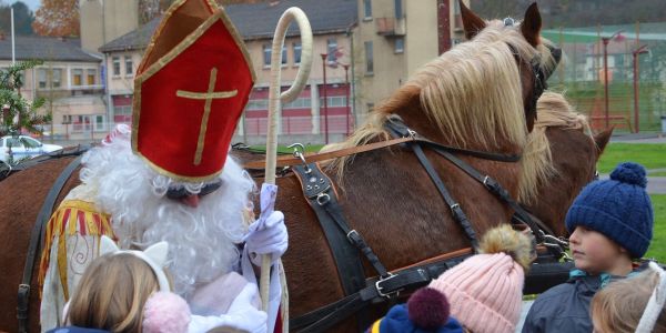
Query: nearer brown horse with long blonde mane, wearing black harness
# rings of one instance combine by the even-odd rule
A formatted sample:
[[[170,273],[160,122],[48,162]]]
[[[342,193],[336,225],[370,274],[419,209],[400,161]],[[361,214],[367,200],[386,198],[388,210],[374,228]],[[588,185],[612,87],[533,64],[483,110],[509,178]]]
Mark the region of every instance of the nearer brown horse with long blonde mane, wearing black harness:
[[[549,50],[538,37],[538,9],[531,6],[519,28],[503,21],[486,22],[464,6],[462,14],[467,36],[473,39],[425,64],[342,145],[386,139],[386,118],[400,115],[414,132],[435,142],[497,154],[525,152],[527,134],[536,118],[533,102],[538,80],[534,65],[545,71],[554,67]],[[433,152],[426,151],[426,155],[476,233],[508,221],[511,209],[482,184]],[[518,194],[521,184],[514,175],[519,174],[521,164],[468,155],[461,159],[492,175],[513,196]],[[11,286],[21,281],[36,208],[70,160],[51,160],[0,182],[1,193],[13,194],[0,203],[0,214],[16,216],[4,219],[0,225],[0,258],[6,268],[0,283],[7,286],[0,291],[3,300],[16,296]],[[354,159],[339,159],[330,167],[326,173],[339,185],[345,216],[389,270],[470,246],[410,151],[397,147],[375,150]],[[74,173],[57,202],[77,184]],[[345,293],[322,228],[302,196],[299,181],[290,174],[279,178],[278,185],[276,210],[285,214],[292,244],[283,258],[290,312],[299,316],[340,300]],[[374,274],[367,264],[365,274]],[[31,285],[37,285],[36,282]],[[34,289],[30,294],[31,331],[39,329],[38,294]],[[0,305],[0,330],[17,331],[14,309],[12,302]],[[353,331],[354,327],[354,322],[347,321],[336,329]]]

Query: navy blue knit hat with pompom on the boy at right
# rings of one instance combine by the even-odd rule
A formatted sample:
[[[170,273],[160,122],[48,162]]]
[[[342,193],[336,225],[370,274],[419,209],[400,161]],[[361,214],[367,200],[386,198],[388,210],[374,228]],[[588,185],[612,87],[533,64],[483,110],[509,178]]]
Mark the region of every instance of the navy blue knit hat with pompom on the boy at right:
[[[603,233],[623,246],[633,258],[647,251],[653,236],[654,214],[645,168],[632,162],[620,163],[609,180],[585,186],[566,213],[566,229],[578,225]]]

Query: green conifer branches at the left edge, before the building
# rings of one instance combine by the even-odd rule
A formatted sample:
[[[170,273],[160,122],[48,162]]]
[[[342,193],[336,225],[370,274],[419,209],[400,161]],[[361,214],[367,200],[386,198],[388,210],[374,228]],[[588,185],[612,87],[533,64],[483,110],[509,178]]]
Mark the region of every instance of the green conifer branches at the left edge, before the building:
[[[29,60],[0,70],[0,137],[18,134],[22,130],[31,133],[41,133],[40,124],[51,121],[50,115],[38,114],[46,100],[38,98],[30,102],[26,100],[20,89],[23,87],[23,73],[26,70],[42,64],[41,60]],[[8,109],[6,109],[9,107]],[[18,121],[17,121],[18,120]]]

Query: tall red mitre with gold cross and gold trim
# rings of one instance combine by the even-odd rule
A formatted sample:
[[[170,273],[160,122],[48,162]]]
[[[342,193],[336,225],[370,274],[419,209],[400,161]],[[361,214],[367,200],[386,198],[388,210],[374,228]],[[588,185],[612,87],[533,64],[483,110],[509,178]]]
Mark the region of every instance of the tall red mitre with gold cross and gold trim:
[[[226,13],[213,0],[176,0],[137,71],[132,150],[179,181],[214,178],[254,80]]]

